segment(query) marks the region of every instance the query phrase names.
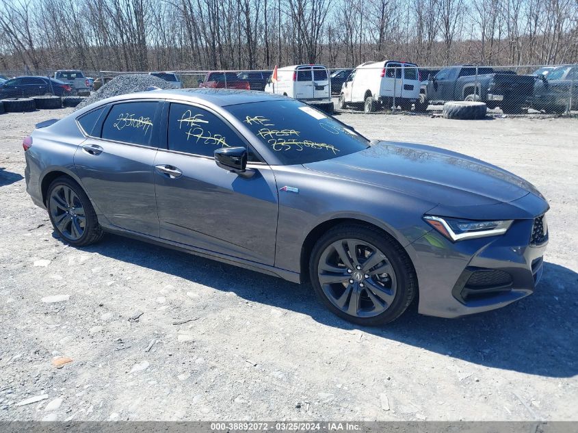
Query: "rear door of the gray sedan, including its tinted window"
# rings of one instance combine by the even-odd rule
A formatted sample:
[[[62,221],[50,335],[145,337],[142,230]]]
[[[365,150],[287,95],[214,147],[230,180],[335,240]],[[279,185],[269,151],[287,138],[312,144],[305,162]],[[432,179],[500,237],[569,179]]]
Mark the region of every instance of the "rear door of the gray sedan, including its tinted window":
[[[83,127],[88,138],[74,159],[88,196],[110,224],[155,237],[159,218],[153,163],[161,107],[155,100],[107,105],[93,114],[98,120],[92,131]],[[82,126],[83,119],[78,121]]]

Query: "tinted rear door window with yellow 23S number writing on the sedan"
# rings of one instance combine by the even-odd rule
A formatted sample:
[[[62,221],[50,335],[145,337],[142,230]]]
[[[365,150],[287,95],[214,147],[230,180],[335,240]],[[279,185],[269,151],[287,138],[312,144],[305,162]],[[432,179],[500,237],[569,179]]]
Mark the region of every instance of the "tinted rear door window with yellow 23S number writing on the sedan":
[[[102,137],[116,142],[150,145],[157,102],[133,102],[114,105],[104,124]]]

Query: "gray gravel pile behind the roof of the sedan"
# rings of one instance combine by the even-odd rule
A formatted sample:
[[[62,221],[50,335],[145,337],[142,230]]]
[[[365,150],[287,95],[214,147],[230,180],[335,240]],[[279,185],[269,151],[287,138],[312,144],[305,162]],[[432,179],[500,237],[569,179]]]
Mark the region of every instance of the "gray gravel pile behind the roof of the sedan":
[[[127,74],[119,75],[114,79],[111,79],[103,87],[96,90],[92,95],[88,96],[84,101],[82,101],[76,109],[81,109],[101,101],[101,99],[110,98],[111,96],[118,96],[119,94],[127,94],[134,92],[143,92],[147,88],[155,86],[161,89],[174,89],[176,88],[169,81],[160,79],[159,77],[154,77],[153,75],[147,74]]]

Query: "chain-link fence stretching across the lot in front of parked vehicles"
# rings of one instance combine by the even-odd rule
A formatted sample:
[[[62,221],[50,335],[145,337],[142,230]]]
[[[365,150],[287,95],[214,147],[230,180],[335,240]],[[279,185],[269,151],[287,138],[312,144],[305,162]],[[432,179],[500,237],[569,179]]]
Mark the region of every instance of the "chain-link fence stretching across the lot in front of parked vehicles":
[[[486,103],[495,114],[576,115],[578,65],[416,66],[366,62],[356,68],[300,65],[273,70],[1,71],[0,98],[93,92],[118,75],[150,74],[179,88],[224,88],[286,94],[324,109],[364,113],[428,113],[447,101]],[[74,78],[74,77],[72,77]],[[42,81],[42,83],[40,82]]]

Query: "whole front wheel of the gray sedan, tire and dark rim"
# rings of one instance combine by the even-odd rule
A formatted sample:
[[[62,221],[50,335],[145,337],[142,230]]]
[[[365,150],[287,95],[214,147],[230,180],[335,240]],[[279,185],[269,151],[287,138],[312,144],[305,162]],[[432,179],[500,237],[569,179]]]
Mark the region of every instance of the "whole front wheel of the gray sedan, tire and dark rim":
[[[364,326],[397,319],[417,289],[405,250],[370,226],[328,231],[313,248],[309,272],[317,297],[332,313]]]

